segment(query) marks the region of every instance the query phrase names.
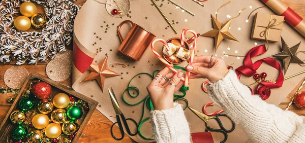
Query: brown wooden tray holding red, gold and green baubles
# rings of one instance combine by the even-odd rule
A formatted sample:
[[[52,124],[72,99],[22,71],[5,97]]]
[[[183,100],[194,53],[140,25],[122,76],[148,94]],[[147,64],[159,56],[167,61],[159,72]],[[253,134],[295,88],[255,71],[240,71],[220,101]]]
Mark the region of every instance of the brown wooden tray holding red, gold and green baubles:
[[[29,75],[28,79],[26,80],[26,82],[22,86],[22,88],[20,90],[20,93],[16,96],[14,103],[12,104],[8,114],[6,115],[3,123],[0,126],[0,142],[7,142],[7,136],[10,134],[11,129],[15,125],[10,120],[10,115],[11,115],[12,111],[18,110],[18,101],[19,101],[20,97],[22,97],[21,95],[25,94],[25,91],[26,91],[27,87],[29,86],[29,84],[33,80],[40,80],[40,81],[44,81],[44,82],[50,84],[51,87],[52,87],[51,97],[53,97],[57,93],[66,93],[68,95],[70,94],[70,96],[74,96],[76,100],[81,99],[81,100],[86,101],[88,103],[89,109],[84,110],[84,113],[83,113],[82,117],[77,120],[77,124],[79,125],[79,129],[78,129],[77,133],[75,134],[75,137],[72,140],[72,142],[77,142],[77,140],[79,139],[79,137],[81,135],[81,132],[85,128],[85,126],[88,123],[90,117],[93,115],[93,112],[95,111],[95,109],[98,105],[98,102],[91,99],[91,98],[86,97],[85,95],[82,95],[82,94],[74,91],[72,88],[68,88],[68,87],[66,87],[66,86],[64,86],[60,83],[52,81],[49,78],[44,77],[44,76],[42,76],[38,73],[31,73]],[[35,99],[35,101],[36,101],[36,104],[37,104],[39,99]],[[54,106],[54,109],[56,109],[55,106]],[[31,121],[33,116],[35,115],[35,114],[32,114],[32,116],[31,116],[31,113],[27,113],[27,112],[25,112],[25,113],[26,113],[26,117],[27,117],[26,121]],[[50,113],[48,115],[50,115]],[[29,119],[31,119],[31,120],[29,120]]]

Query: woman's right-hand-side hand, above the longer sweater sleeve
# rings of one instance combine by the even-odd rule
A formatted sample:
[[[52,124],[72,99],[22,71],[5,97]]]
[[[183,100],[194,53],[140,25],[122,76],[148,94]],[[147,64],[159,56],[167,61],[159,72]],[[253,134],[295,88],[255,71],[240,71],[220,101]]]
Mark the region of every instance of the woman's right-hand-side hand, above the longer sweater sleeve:
[[[212,83],[221,80],[229,71],[223,58],[209,55],[195,57],[186,69],[191,72],[190,79],[206,78]]]

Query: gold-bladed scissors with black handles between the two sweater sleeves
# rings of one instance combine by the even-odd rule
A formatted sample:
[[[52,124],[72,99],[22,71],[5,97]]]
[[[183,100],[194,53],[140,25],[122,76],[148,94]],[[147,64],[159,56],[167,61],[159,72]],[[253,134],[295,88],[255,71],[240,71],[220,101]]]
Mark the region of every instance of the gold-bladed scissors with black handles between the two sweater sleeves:
[[[225,142],[225,141],[228,139],[228,132],[231,132],[231,131],[233,131],[233,130],[235,129],[235,123],[234,123],[234,122],[231,120],[231,118],[228,117],[226,114],[216,114],[215,116],[207,116],[207,115],[205,115],[205,114],[203,114],[203,113],[201,113],[201,112],[195,110],[194,108],[191,108],[190,106],[188,106],[188,108],[191,109],[191,111],[193,111],[201,120],[204,121],[205,126],[206,126],[206,128],[205,128],[205,131],[206,131],[206,132],[207,132],[208,130],[210,130],[210,131],[215,131],[215,132],[221,132],[221,133],[223,133],[223,134],[225,135],[224,140],[223,140],[223,141],[220,141],[221,143]],[[227,130],[227,129],[223,126],[221,120],[218,118],[219,116],[224,116],[224,117],[229,118],[229,120],[232,122],[232,128],[229,129],[229,130]],[[218,124],[219,124],[219,126],[220,126],[220,129],[211,128],[211,127],[208,125],[208,121],[209,121],[210,119],[215,119],[215,120],[218,122]]]

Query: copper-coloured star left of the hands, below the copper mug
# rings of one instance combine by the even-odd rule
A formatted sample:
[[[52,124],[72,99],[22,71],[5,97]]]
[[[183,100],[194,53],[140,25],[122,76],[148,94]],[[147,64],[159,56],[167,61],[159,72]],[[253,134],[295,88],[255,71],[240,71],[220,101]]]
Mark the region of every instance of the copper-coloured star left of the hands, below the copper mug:
[[[85,81],[90,81],[90,80],[97,80],[102,92],[104,89],[104,83],[105,83],[105,79],[108,77],[115,77],[115,76],[120,76],[120,74],[115,73],[114,71],[107,69],[107,60],[108,60],[108,55],[102,60],[102,62],[97,65],[92,63],[90,65],[90,70],[91,73],[83,80],[81,80],[80,82],[85,82]]]

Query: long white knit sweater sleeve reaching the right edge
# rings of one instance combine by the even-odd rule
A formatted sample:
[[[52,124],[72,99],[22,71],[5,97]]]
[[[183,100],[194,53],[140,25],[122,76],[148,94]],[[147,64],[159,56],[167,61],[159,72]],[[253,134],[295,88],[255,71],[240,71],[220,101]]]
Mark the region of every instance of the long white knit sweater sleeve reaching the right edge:
[[[233,70],[217,83],[209,83],[207,89],[211,100],[221,106],[253,142],[305,142],[304,117],[251,95]]]

